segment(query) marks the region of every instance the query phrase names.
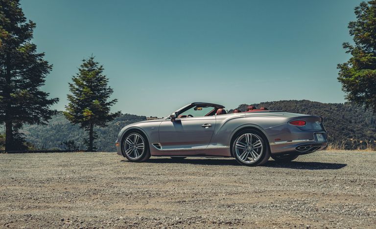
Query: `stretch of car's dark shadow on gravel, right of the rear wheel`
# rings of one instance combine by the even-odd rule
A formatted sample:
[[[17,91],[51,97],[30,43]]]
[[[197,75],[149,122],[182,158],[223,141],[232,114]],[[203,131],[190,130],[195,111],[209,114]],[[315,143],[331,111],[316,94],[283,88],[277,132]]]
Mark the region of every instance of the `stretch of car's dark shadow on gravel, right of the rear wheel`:
[[[324,162],[288,162],[281,163],[276,161],[268,161],[264,165],[265,167],[276,167],[276,168],[293,168],[293,169],[309,169],[309,170],[320,170],[320,169],[341,169],[347,164],[338,163],[324,163]]]

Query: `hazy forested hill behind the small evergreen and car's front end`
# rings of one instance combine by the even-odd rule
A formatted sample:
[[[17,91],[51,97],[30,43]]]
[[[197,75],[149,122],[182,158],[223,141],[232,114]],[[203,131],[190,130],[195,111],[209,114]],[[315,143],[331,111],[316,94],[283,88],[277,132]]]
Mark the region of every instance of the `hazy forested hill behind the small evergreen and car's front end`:
[[[115,141],[120,129],[125,125],[145,120],[145,116],[124,114],[110,122],[107,127],[94,128],[98,134],[97,151],[116,151]],[[71,125],[62,114],[54,116],[48,125],[26,125],[23,132],[26,141],[38,149],[65,149],[63,142],[67,141],[74,141],[80,149],[84,149],[84,138],[88,137],[79,125]]]

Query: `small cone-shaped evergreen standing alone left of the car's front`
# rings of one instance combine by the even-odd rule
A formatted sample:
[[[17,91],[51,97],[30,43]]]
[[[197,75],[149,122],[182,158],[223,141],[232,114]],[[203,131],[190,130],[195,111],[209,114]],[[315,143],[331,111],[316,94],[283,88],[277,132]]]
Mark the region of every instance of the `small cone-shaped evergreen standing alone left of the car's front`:
[[[85,144],[89,151],[95,151],[94,140],[97,134],[94,125],[106,126],[120,116],[120,111],[110,113],[111,106],[118,102],[114,99],[108,101],[113,89],[109,87],[108,79],[103,75],[103,65],[94,61],[94,57],[84,59],[76,76],[69,83],[71,95],[68,95],[69,104],[64,112],[65,117],[72,124],[80,124],[89,132]]]

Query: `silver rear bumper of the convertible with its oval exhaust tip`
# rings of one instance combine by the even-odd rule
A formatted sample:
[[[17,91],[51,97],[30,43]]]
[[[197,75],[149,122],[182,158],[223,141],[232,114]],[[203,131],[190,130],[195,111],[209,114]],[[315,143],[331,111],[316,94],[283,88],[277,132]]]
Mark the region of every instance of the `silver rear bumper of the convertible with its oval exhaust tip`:
[[[324,150],[328,142],[316,142],[312,140],[295,140],[287,142],[269,143],[273,155],[279,154],[307,154]]]

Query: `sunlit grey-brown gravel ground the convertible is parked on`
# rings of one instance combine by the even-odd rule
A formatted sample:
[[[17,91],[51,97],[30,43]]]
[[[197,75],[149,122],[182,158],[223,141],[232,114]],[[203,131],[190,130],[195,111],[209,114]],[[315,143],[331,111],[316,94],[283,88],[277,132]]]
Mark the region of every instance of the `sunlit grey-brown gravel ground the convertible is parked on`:
[[[262,167],[0,154],[0,228],[375,228],[375,161],[356,151]]]

